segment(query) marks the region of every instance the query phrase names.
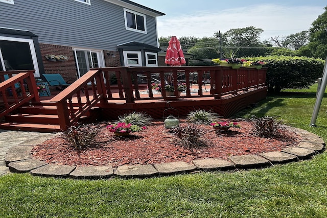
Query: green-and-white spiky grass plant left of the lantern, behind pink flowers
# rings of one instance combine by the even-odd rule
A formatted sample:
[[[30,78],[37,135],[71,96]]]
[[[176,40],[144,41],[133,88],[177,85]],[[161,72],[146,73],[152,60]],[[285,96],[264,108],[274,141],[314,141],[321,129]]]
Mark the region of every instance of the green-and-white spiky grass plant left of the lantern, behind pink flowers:
[[[143,112],[132,112],[118,117],[119,122],[125,124],[137,125],[139,127],[149,126],[152,122],[152,117]]]

